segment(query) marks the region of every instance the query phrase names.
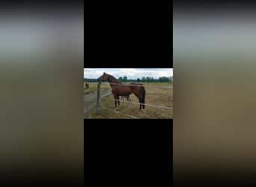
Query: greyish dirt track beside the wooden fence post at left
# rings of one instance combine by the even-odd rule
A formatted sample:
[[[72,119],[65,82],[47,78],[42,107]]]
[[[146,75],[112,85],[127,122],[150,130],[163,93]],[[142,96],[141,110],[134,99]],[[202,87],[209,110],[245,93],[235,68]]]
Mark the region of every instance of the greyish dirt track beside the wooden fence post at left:
[[[109,93],[109,91],[100,91],[100,96]],[[84,118],[87,118],[88,111],[91,111],[97,105],[97,91],[84,95]]]

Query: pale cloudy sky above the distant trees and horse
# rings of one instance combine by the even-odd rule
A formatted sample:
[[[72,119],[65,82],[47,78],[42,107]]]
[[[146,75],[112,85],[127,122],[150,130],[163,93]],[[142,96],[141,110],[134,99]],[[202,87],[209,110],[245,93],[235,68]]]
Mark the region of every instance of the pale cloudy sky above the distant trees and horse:
[[[117,79],[124,76],[127,76],[127,79],[141,79],[143,76],[159,79],[162,76],[173,76],[173,68],[84,68],[84,78],[97,79],[103,72]]]

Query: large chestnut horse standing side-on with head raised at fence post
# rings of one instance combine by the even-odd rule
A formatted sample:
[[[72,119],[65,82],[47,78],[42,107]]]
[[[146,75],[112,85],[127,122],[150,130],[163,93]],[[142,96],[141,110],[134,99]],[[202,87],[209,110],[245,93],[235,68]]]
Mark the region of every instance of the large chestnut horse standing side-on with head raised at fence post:
[[[115,110],[120,106],[119,96],[129,96],[129,94],[134,94],[138,98],[138,102],[140,103],[139,109],[145,108],[145,96],[146,91],[144,85],[136,82],[129,83],[129,85],[123,84],[122,82],[115,79],[114,76],[109,75],[107,73],[103,73],[103,76],[100,76],[97,79],[98,82],[108,81],[109,85],[112,88],[112,93],[115,99]],[[118,105],[117,105],[118,102]]]

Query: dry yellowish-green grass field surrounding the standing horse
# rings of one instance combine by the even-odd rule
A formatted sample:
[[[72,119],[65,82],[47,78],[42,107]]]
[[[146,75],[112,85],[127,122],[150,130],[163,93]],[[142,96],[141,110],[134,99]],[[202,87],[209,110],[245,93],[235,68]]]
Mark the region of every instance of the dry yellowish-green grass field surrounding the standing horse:
[[[115,119],[115,118],[154,118],[154,119],[172,119],[173,118],[173,85],[172,83],[143,83],[146,89],[145,97],[145,112],[139,110],[138,98],[134,95],[130,95],[132,99],[132,105],[129,108],[127,99],[124,102],[121,101],[121,107],[117,112],[113,111],[115,108],[115,101],[112,93],[109,96],[103,97],[100,101],[100,107],[97,112],[96,105],[88,111],[86,118],[103,118],[103,119]],[[109,83],[103,83],[100,86],[101,92],[111,92]],[[84,90],[84,97],[88,93],[95,93],[94,99],[97,98],[97,83],[91,84],[88,90]],[[96,97],[95,97],[96,96]],[[95,100],[95,103],[97,99]],[[84,103],[86,105],[86,103]],[[105,109],[107,108],[107,109]]]

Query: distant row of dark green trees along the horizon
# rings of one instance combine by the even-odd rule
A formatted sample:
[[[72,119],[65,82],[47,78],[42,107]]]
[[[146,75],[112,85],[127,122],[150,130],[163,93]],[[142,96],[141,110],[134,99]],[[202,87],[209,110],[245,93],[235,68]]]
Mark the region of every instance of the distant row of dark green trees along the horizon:
[[[162,76],[159,77],[159,79],[153,79],[153,77],[149,76],[142,76],[141,78],[138,79],[127,79],[127,76],[124,77],[119,77],[119,81],[121,82],[173,82],[173,76]],[[84,82],[97,82],[97,79],[87,79],[84,78]]]

